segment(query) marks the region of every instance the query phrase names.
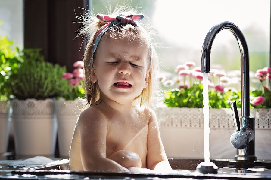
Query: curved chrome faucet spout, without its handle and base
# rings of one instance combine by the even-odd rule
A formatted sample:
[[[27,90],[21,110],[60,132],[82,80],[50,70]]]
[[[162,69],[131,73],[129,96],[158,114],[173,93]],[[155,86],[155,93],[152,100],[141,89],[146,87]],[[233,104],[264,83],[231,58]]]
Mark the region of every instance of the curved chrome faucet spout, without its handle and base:
[[[241,30],[232,22],[222,22],[213,26],[206,35],[201,50],[201,72],[210,72],[210,54],[213,40],[223,29],[229,29],[238,41],[241,52],[241,116],[249,117],[249,57],[248,46]]]

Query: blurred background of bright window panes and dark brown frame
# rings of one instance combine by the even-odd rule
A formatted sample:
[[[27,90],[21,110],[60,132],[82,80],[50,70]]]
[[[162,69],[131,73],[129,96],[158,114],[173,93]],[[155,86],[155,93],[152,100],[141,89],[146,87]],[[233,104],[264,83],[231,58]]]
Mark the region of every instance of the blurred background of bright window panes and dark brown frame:
[[[165,71],[174,72],[179,64],[193,61],[200,65],[201,47],[209,29],[231,21],[244,33],[250,55],[250,69],[269,66],[270,1],[163,1],[163,0],[0,0],[0,35],[7,35],[14,46],[43,48],[45,60],[66,65],[82,58],[81,37],[74,40],[79,24],[73,24],[77,7],[107,13],[107,8],[126,2],[140,7],[157,30],[155,37]],[[212,46],[211,68],[240,70],[240,52],[228,30],[220,32]],[[166,62],[166,63],[165,63]],[[166,65],[165,65],[166,64]]]

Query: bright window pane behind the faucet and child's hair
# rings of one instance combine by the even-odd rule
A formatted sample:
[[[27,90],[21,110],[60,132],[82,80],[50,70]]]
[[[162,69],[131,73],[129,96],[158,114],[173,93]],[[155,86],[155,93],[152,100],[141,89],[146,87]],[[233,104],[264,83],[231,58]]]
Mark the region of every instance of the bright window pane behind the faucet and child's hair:
[[[111,1],[111,7],[123,1]],[[179,64],[194,61],[200,65],[201,47],[210,28],[223,21],[235,23],[245,35],[250,57],[250,69],[256,71],[269,65],[270,1],[130,1],[142,7],[152,26],[162,38],[161,61],[164,70],[174,72]],[[106,13],[106,0],[90,1],[95,13]],[[165,63],[166,62],[166,63]],[[212,46],[211,68],[240,70],[240,51],[235,37],[221,31]]]

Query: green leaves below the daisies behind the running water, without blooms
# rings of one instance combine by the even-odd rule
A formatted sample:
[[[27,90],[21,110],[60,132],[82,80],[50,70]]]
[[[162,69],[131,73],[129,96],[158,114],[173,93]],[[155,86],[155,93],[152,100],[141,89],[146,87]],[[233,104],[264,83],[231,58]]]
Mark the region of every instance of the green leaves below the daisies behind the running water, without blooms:
[[[221,93],[216,90],[209,91],[209,108],[230,108],[229,101],[236,101],[241,107],[241,92],[229,90]],[[175,88],[167,91],[164,104],[168,107],[203,107],[203,85],[196,82],[189,88]]]

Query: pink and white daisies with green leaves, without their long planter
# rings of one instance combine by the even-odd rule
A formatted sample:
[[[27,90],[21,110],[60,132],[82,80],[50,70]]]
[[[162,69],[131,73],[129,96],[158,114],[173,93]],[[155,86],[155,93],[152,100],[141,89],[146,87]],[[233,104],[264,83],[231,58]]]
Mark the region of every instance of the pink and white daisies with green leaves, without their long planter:
[[[163,82],[163,88],[168,89],[164,94],[164,104],[167,107],[203,107],[203,76],[199,67],[193,62],[187,62],[185,65],[176,67],[178,73],[175,81],[167,80]],[[257,74],[261,73],[261,74]],[[271,68],[265,67],[259,70],[256,77],[260,80],[260,90],[251,91],[251,108],[271,108],[271,91],[268,85],[271,85]],[[210,108],[230,108],[230,101],[235,100],[237,107],[241,107],[241,92],[235,88],[226,88],[230,78],[226,77],[226,73],[211,70],[209,73],[209,107]],[[261,77],[261,78],[259,78]],[[162,78],[163,79],[163,78]],[[161,80],[161,79],[160,79]],[[213,82],[217,84],[214,85]],[[263,81],[268,82],[263,82]],[[169,89],[170,88],[170,89]]]

